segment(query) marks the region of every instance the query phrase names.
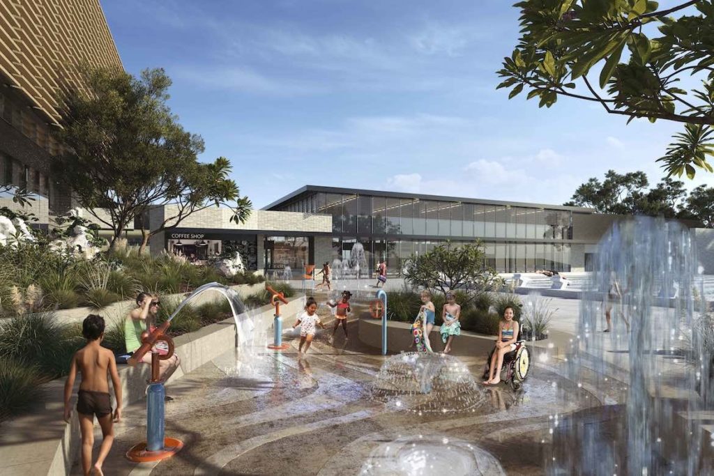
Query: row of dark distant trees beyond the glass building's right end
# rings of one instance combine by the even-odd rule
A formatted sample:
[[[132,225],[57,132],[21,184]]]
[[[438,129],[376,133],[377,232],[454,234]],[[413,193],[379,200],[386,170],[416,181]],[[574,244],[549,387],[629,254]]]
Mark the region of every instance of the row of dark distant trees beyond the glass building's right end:
[[[598,213],[689,218],[714,226],[714,188],[699,186],[689,197],[684,183],[663,178],[656,186],[644,172],[605,173],[605,180],[590,178],[573,193],[568,206],[594,208]]]

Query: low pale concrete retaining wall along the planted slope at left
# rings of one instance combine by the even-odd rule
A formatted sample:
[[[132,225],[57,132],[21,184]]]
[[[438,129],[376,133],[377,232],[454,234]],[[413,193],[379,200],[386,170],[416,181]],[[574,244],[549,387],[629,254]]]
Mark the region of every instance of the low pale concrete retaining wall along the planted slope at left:
[[[262,285],[261,285],[262,286]],[[243,288],[243,286],[241,286]],[[215,295],[208,295],[211,300]],[[200,296],[199,296],[200,298]],[[197,299],[198,300],[198,299]],[[291,298],[281,306],[285,320],[290,320],[302,308],[301,298]],[[273,308],[263,306],[256,311],[263,323],[273,322]],[[68,319],[74,318],[69,313]],[[84,313],[86,315],[86,313]],[[233,318],[208,325],[194,333],[179,335],[174,339],[181,366],[169,379],[169,385],[183,375],[210,362],[213,358],[236,347],[236,326]],[[119,366],[124,407],[144,400],[149,365]],[[62,420],[64,411],[65,379],[53,380],[44,385],[46,397],[29,415],[6,421],[0,425],[0,474],[3,476],[68,475],[80,446],[79,421],[76,411],[69,424]],[[111,386],[111,382],[110,382]],[[79,381],[76,383],[79,388]],[[76,395],[76,388],[74,395]],[[114,400],[114,390],[110,390]],[[73,396],[73,408],[76,397]],[[116,402],[112,402],[116,407]]]

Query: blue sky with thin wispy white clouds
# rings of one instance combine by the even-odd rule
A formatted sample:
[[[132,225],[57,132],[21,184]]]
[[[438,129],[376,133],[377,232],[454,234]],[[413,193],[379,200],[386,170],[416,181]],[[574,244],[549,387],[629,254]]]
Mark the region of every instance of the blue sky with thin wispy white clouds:
[[[560,204],[610,168],[658,181],[681,125],[496,91],[511,3],[101,2],[124,69],[166,70],[200,160],[229,158],[255,208],[306,184]]]

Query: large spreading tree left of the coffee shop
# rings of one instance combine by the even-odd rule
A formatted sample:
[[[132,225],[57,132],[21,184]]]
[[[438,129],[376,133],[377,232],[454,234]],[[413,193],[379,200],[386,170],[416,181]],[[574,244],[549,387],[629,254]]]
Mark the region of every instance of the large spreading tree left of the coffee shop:
[[[81,74],[85,88],[66,90],[59,101],[64,127],[56,136],[66,150],[54,157],[53,169],[81,206],[111,228],[112,247],[151,206],[175,205],[177,212],[149,233],[143,229],[142,248],[208,206],[228,206],[231,221],[246,220],[251,202],[228,178],[228,160],[199,163],[203,139],[184,131],[166,105],[171,80],[163,69],[140,78],[116,69]]]

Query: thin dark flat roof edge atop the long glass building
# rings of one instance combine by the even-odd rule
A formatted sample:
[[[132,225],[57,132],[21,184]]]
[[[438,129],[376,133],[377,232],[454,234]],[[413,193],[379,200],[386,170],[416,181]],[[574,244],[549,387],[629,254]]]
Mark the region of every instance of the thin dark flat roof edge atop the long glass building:
[[[565,210],[565,211],[576,211],[579,213],[595,213],[592,208],[578,207],[578,206],[565,206],[565,205],[547,205],[545,203],[528,203],[528,202],[512,202],[512,201],[502,201],[502,200],[484,200],[482,198],[464,198],[464,197],[450,197],[450,196],[439,196],[439,195],[425,195],[423,193],[406,193],[406,192],[386,192],[377,190],[363,190],[360,188],[340,188],[340,187],[323,187],[318,185],[306,185],[298,188],[296,191],[288,193],[288,195],[278,198],[278,200],[264,206],[261,210],[271,210],[293,198],[296,198],[303,193],[315,193],[315,192],[325,192],[325,193],[356,193],[358,195],[372,195],[372,196],[382,196],[389,198],[418,198],[419,200],[438,200],[438,201],[448,201],[448,202],[463,202],[463,203],[476,203],[478,205],[504,205],[504,206],[518,206],[526,208],[548,208],[549,210]]]

